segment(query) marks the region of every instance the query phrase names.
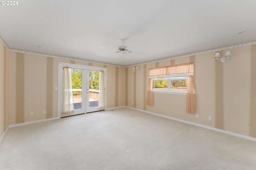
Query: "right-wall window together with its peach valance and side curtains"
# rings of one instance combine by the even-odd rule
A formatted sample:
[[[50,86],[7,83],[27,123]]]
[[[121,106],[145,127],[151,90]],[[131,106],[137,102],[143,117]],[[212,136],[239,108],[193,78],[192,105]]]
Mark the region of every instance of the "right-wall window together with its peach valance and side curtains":
[[[194,63],[149,68],[146,101],[148,106],[153,106],[153,92],[185,94],[186,112],[196,113]]]

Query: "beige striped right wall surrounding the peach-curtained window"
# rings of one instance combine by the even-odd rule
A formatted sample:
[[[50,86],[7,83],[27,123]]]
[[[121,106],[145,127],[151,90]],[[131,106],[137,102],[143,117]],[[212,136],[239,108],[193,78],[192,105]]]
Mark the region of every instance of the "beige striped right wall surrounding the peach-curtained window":
[[[256,137],[256,90],[253,89],[256,84],[256,45],[218,52],[225,54],[226,51],[231,51],[232,56],[225,63],[217,63],[215,53],[206,53],[141,65],[138,73],[132,72],[133,67],[129,67],[128,106]],[[196,113],[199,117],[186,113],[186,95],[153,93],[154,106],[146,106],[145,109],[142,101],[146,100],[143,94],[148,84],[148,69],[190,62],[194,62],[195,68]],[[208,116],[212,116],[212,120],[208,120]]]

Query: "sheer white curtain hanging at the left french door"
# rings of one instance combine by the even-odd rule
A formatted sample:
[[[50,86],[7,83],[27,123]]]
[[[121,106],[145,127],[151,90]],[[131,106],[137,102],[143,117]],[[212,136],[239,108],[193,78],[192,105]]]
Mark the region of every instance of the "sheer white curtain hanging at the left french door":
[[[70,115],[74,113],[71,68],[64,67],[63,70],[62,115]]]

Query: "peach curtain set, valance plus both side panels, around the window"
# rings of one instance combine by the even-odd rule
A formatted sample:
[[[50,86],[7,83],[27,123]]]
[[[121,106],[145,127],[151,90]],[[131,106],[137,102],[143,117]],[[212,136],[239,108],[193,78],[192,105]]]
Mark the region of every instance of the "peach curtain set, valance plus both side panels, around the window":
[[[178,74],[194,73],[194,63],[178,64],[172,66],[164,66],[157,68],[150,68],[148,71],[148,92],[147,102],[148,106],[153,106],[153,92],[152,92],[152,77],[154,76],[171,76]],[[187,113],[196,113],[196,90],[194,85],[194,76],[188,76],[188,90],[187,90]],[[190,80],[190,81],[189,81]]]

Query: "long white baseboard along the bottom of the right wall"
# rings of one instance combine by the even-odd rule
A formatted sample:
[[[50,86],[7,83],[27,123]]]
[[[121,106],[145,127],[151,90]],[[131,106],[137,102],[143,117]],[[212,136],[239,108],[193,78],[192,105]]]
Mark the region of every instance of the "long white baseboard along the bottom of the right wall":
[[[157,114],[157,113],[153,113],[153,112],[145,111],[145,110],[141,110],[141,109],[136,109],[136,108],[129,107],[129,106],[124,106],[124,107],[130,108],[130,109],[134,109],[134,110],[137,110],[137,111],[142,111],[142,112],[149,113],[149,114],[152,114],[152,115],[157,115],[157,116],[164,117],[164,118],[167,118],[167,119],[172,119],[172,120],[175,120],[175,121],[180,121],[182,123],[187,123],[187,124],[198,126],[198,127],[202,127],[202,128],[205,128],[205,129],[210,129],[212,131],[217,131],[217,132],[220,132],[220,133],[225,133],[225,134],[228,134],[228,135],[232,135],[232,136],[248,139],[250,141],[255,141],[256,142],[256,138],[254,138],[254,137],[248,137],[248,136],[245,136],[245,135],[240,135],[240,134],[237,134],[237,133],[233,133],[233,132],[229,132],[229,131],[224,131],[224,130],[217,129],[217,128],[214,128],[214,127],[210,127],[210,126],[206,126],[206,125],[201,125],[201,124],[193,123],[193,122],[190,122],[190,121],[185,121],[185,120],[182,120],[182,119],[177,119],[177,118],[166,116],[166,115],[160,115],[160,114]]]

